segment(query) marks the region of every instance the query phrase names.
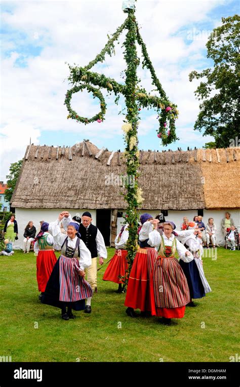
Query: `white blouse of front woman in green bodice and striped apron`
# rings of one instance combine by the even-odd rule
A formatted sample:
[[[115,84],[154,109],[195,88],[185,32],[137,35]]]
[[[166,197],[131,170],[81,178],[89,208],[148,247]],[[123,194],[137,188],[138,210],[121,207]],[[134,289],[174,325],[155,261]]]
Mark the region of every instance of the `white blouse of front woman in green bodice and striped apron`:
[[[167,245],[167,246],[173,245],[173,241],[175,238],[175,236],[173,234],[171,234],[170,238],[168,238],[165,234],[163,234],[163,238],[164,238],[165,245]],[[193,255],[190,253],[189,256],[186,256],[185,253],[188,250],[184,247],[184,245],[181,242],[179,242],[178,239],[176,239],[176,240],[177,240],[176,249],[177,249],[179,258],[182,259],[184,262],[192,261]],[[162,243],[162,238],[161,238],[161,235],[159,234],[159,232],[157,232],[156,230],[153,230],[152,232],[149,233],[148,244],[150,244],[150,246],[152,246],[152,247],[157,246],[158,247],[157,250],[158,250],[161,243]]]

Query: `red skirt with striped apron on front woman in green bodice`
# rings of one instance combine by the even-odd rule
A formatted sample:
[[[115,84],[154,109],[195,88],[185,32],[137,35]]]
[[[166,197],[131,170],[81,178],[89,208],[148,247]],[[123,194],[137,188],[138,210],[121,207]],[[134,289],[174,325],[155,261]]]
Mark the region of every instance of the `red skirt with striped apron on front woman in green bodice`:
[[[182,319],[185,305],[190,302],[187,279],[176,258],[157,258],[150,280],[151,314],[166,319]]]

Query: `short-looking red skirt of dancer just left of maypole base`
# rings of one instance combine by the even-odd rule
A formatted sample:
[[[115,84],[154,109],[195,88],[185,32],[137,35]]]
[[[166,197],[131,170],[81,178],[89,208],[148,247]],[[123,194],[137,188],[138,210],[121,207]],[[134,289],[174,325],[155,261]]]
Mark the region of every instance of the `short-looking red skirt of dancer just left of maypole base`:
[[[119,249],[115,251],[115,254],[112,257],[103,275],[102,279],[104,281],[111,281],[115,282],[116,284],[123,284],[123,280],[119,277],[124,277],[126,275],[126,271],[128,270],[127,255],[127,250]]]

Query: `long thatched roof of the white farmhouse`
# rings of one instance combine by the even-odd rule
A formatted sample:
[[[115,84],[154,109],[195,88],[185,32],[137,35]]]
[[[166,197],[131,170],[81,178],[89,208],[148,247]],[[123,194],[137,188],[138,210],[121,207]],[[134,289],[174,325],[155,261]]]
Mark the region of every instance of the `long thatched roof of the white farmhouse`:
[[[240,149],[141,151],[142,209],[239,208]],[[73,147],[28,146],[12,197],[20,208],[126,208],[118,185],[123,153],[84,141]],[[111,175],[113,174],[113,175]],[[114,182],[114,180],[113,180]]]

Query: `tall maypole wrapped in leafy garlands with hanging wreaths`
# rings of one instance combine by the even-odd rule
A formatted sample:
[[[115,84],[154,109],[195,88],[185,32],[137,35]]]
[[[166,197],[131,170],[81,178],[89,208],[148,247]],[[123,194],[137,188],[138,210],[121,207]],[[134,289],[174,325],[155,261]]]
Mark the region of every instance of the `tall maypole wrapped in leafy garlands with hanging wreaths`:
[[[139,32],[138,23],[135,17],[135,0],[125,1],[123,4],[123,10],[127,13],[127,18],[124,23],[117,28],[116,32],[112,34],[112,37],[108,40],[102,51],[92,60],[87,66],[70,66],[70,76],[68,80],[73,86],[67,91],[65,96],[65,104],[68,110],[67,118],[76,120],[79,123],[89,124],[90,122],[97,121],[101,123],[105,119],[106,102],[100,91],[100,88],[106,89],[109,93],[113,92],[116,96],[115,102],[117,103],[119,96],[122,94],[125,97],[127,115],[124,120],[122,129],[125,133],[125,159],[127,166],[127,175],[131,177],[131,181],[134,181],[134,186],[126,184],[126,193],[124,194],[125,200],[128,203],[126,210],[127,221],[129,224],[129,239],[127,241],[128,250],[128,263],[129,270],[124,278],[126,284],[128,282],[128,275],[132,267],[133,259],[137,252],[138,242],[138,219],[139,208],[143,202],[142,190],[138,186],[139,178],[139,150],[138,150],[138,125],[139,125],[139,112],[143,108],[153,108],[157,112],[157,119],[159,126],[157,131],[157,137],[161,138],[162,145],[166,146],[173,143],[177,138],[175,130],[175,120],[178,118],[177,105],[172,103],[167,97],[161,83],[159,82],[154,67],[148,56],[146,46],[142,40]],[[124,58],[127,64],[125,70],[126,80],[125,85],[119,84],[114,79],[105,77],[103,74],[91,72],[90,69],[98,62],[103,62],[105,55],[110,56],[114,54],[114,43],[117,41],[120,34],[127,30],[126,40],[124,42]],[[159,96],[151,95],[144,88],[139,86],[139,80],[137,77],[137,67],[140,64],[140,59],[137,56],[136,43],[141,46],[142,49],[142,66],[149,69],[152,85],[156,87]],[[98,88],[97,88],[97,87]],[[83,117],[77,114],[71,108],[71,97],[73,93],[83,91],[87,89],[88,92],[93,93],[94,98],[98,98],[100,101],[100,112],[92,118]],[[130,179],[129,179],[130,181]]]

